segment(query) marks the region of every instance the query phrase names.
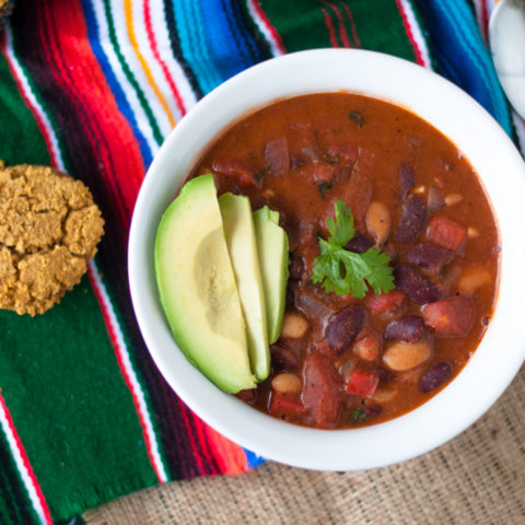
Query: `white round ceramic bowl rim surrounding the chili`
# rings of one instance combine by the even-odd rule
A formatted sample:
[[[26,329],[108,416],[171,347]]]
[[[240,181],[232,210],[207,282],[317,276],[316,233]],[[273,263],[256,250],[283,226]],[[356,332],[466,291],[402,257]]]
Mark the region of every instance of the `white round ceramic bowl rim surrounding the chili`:
[[[266,416],[224,394],[186,360],[164,317],[153,244],[160,218],[207,145],[246,113],[276,98],[351,91],[409,108],[464,152],[490,196],[502,243],[498,305],[471,360],[441,393],[393,421],[354,430],[316,430]],[[170,385],[232,441],[289,465],[357,470],[400,462],[444,443],[481,416],[525,359],[525,165],[495,120],[463,91],[410,62],[362,50],[287,55],[250,68],[202,98],[155,156],[140,190],[129,240],[137,319]]]

